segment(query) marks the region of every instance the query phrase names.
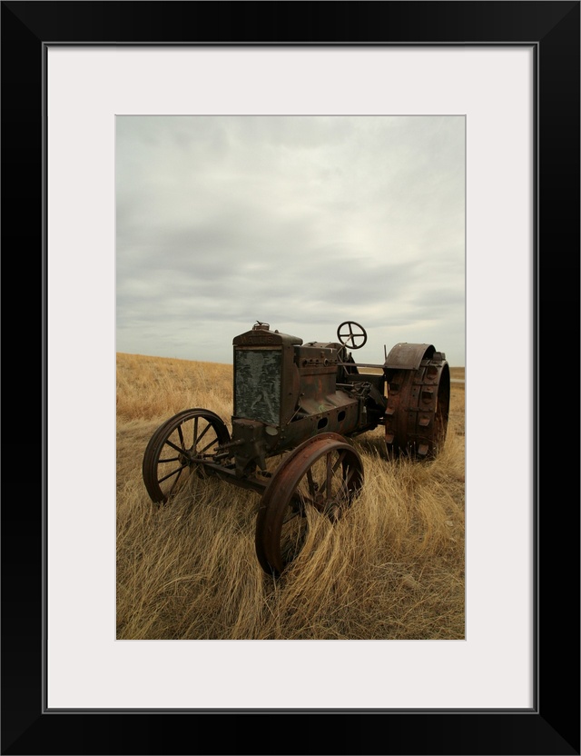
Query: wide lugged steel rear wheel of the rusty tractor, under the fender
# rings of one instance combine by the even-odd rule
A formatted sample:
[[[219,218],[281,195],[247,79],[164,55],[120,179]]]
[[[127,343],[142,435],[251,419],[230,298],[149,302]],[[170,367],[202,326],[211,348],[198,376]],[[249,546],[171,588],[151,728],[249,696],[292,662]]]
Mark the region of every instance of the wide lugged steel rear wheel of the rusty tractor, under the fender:
[[[450,373],[446,361],[422,360],[418,370],[399,370],[388,384],[385,443],[389,453],[433,459],[448,430]]]

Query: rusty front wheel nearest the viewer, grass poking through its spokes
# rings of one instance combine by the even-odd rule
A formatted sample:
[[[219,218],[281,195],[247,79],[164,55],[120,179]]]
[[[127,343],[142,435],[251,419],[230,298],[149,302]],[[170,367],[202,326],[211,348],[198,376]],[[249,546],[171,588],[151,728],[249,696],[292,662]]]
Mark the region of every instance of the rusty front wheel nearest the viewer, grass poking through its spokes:
[[[359,453],[337,433],[301,443],[272,475],[256,521],[256,554],[269,575],[280,575],[299,555],[308,509],[337,520],[363,484]]]

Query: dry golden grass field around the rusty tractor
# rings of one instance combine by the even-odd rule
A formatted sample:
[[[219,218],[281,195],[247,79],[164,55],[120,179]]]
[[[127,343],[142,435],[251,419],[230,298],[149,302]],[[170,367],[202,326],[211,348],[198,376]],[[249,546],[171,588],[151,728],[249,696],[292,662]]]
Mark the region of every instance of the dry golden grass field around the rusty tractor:
[[[231,429],[231,365],[117,354],[118,639],[464,638],[464,383],[436,460],[388,461],[382,427],[353,440],[359,498],[339,522],[320,518],[278,580],[254,551],[257,493],[194,479],[157,507],[145,490],[149,439],[192,407]]]

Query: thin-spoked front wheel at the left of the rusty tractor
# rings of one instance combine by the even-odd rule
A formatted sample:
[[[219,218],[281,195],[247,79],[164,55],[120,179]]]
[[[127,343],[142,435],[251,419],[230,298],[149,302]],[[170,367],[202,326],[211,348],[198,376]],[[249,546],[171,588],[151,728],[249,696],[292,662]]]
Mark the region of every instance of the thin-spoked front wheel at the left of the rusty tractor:
[[[163,423],[143,454],[143,482],[153,502],[165,503],[192,472],[203,471],[216,448],[230,441],[222,419],[209,410],[183,410]]]

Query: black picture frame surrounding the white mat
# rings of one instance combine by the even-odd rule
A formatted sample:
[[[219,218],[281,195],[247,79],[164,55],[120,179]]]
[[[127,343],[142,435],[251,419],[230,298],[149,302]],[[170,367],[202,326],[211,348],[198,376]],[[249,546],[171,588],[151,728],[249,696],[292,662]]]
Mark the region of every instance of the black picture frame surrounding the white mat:
[[[4,476],[3,754],[579,754],[579,6],[527,0],[2,2],[2,241],[10,287],[3,448],[5,459],[11,450],[24,463],[20,474],[13,477],[19,467],[13,463]],[[44,710],[49,43],[534,46],[537,622],[530,711]],[[517,383],[527,366],[494,365],[494,343],[485,346],[491,379]],[[26,365],[23,357],[31,356]],[[41,379],[42,392],[31,374]],[[518,443],[509,426],[507,418],[494,453],[509,453]],[[16,446],[15,438],[26,443]],[[31,448],[38,438],[42,443]]]

